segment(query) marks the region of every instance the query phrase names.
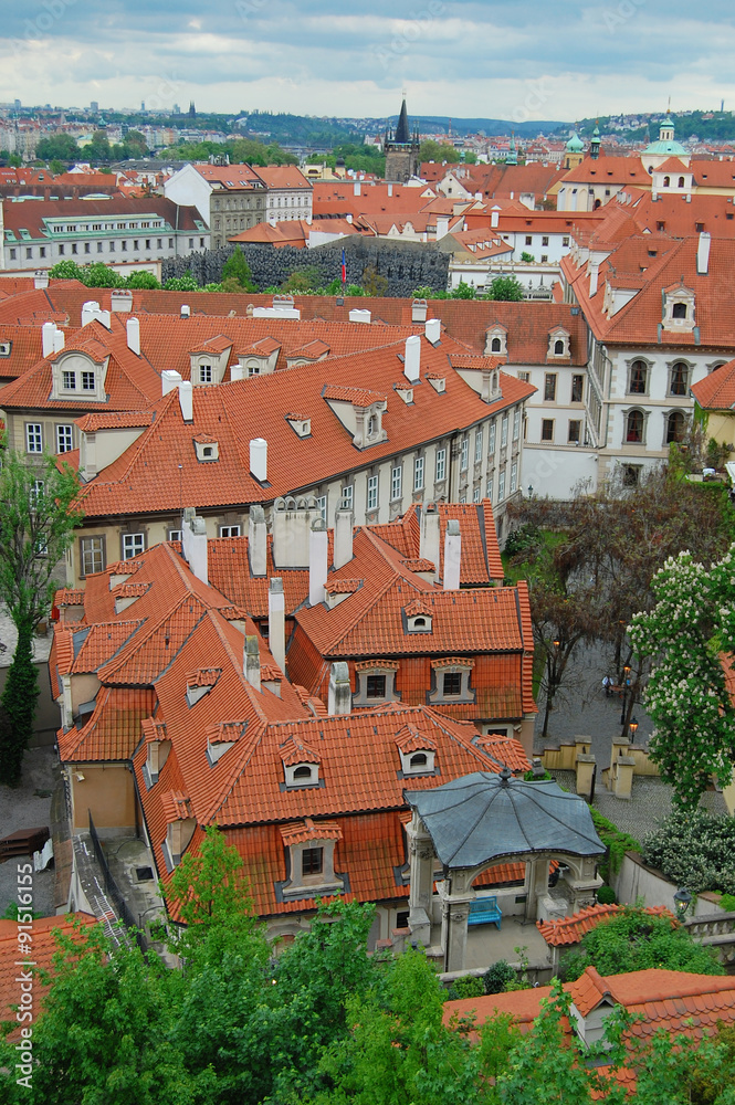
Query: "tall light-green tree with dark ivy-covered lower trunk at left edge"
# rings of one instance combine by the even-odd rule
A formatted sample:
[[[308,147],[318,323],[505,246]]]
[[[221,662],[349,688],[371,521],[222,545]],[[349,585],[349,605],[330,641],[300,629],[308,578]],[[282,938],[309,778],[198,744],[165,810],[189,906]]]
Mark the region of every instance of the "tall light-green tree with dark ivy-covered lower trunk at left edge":
[[[51,608],[54,571],[82,520],[75,504],[76,473],[44,455],[31,467],[25,456],[3,449],[0,469],[0,600],[18,630],[18,644],[2,693],[10,723],[0,735],[0,778],[11,787],[21,777],[23,753],[33,732],[38,673],[33,631]]]

